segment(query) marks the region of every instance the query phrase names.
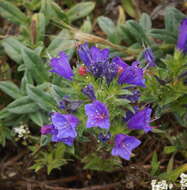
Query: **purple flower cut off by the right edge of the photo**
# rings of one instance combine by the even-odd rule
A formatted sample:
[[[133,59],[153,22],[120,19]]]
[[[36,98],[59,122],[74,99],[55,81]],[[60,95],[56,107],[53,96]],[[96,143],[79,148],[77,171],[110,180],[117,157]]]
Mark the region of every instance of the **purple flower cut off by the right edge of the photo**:
[[[183,19],[179,26],[177,49],[187,53],[187,18]]]

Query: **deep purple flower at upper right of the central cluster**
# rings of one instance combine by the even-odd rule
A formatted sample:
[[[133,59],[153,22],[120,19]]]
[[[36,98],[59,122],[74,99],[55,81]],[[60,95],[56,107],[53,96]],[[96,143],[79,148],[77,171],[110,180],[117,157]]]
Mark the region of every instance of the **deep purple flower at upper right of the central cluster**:
[[[143,69],[138,67],[139,62],[134,62],[128,66],[125,71],[119,76],[119,84],[133,84],[136,86],[145,87],[145,79],[143,78]]]

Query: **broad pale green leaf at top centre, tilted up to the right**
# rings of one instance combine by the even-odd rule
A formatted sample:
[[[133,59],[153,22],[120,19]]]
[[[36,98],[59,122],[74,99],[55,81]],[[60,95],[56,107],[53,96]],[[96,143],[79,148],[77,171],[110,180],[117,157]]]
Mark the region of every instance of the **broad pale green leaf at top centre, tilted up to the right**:
[[[95,8],[94,2],[81,2],[73,6],[66,12],[70,22],[87,16]]]

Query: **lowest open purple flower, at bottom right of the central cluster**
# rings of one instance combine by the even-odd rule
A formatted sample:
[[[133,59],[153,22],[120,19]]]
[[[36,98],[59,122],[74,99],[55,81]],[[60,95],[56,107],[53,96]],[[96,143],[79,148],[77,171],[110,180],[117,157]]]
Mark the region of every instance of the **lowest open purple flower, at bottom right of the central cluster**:
[[[118,134],[115,136],[115,145],[112,149],[112,155],[130,160],[132,150],[140,144],[141,141],[133,136]]]

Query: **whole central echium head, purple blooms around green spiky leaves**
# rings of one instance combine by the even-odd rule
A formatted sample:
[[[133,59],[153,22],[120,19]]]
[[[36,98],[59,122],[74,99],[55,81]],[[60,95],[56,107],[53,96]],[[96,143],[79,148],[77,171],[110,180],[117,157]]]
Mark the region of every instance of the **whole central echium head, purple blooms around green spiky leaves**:
[[[41,128],[41,134],[68,146],[94,134],[113,156],[130,160],[141,141],[129,133],[152,130],[152,109],[139,105],[140,88],[146,88],[144,73],[155,66],[152,52],[148,49],[145,53],[148,65],[144,68],[139,61],[128,65],[120,57],[111,57],[108,49],[89,47],[87,43],[77,52],[81,64],[73,69],[64,52],[50,60],[50,72],[65,80],[64,97],[55,111],[49,110],[51,123]]]

